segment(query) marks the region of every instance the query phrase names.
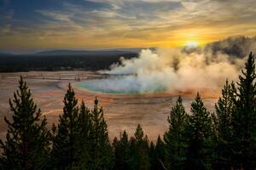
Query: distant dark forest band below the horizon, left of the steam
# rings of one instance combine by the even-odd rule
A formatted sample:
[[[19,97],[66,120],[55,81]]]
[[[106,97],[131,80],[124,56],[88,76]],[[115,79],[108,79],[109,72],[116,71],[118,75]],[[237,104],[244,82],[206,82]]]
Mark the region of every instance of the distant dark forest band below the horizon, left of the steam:
[[[0,72],[17,71],[99,71],[109,69],[109,65],[125,59],[137,57],[137,53],[116,52],[113,54],[67,54],[67,55],[1,55]]]

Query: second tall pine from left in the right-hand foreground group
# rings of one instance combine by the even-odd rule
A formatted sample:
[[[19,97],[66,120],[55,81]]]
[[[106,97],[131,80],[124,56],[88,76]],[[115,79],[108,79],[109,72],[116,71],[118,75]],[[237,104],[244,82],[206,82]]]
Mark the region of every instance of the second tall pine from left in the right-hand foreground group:
[[[199,94],[191,104],[191,116],[186,133],[188,135],[186,169],[211,169],[212,120]]]

